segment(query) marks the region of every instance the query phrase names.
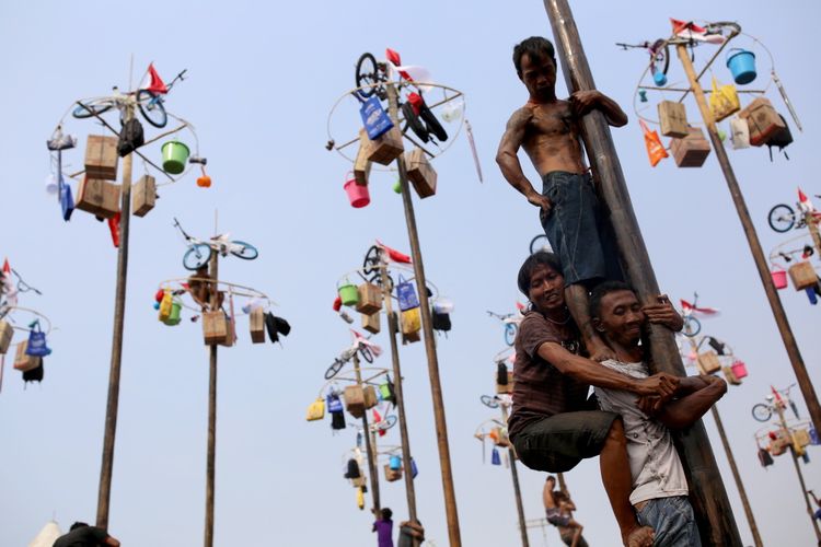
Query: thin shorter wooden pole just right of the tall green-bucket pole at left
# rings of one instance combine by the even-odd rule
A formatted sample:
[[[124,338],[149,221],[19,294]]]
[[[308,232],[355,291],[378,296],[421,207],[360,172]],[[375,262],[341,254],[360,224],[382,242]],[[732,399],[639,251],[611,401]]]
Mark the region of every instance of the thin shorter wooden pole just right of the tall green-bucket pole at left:
[[[208,265],[211,312],[219,312],[219,253],[211,252]],[[229,335],[232,336],[231,333]],[[208,449],[206,455],[205,547],[213,547],[213,499],[217,474],[217,344],[208,348]]]

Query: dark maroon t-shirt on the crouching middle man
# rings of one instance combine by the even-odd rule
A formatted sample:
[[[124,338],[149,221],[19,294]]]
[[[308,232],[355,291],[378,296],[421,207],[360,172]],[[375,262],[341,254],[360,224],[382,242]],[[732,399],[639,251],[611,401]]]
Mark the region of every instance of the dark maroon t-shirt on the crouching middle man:
[[[560,344],[571,353],[581,346],[579,331],[570,319],[557,325],[541,313],[524,314],[516,336],[516,363],[513,364],[513,409],[508,419],[510,437],[527,424],[560,412],[586,410],[590,386],[567,374],[539,357],[539,347],[545,342]]]

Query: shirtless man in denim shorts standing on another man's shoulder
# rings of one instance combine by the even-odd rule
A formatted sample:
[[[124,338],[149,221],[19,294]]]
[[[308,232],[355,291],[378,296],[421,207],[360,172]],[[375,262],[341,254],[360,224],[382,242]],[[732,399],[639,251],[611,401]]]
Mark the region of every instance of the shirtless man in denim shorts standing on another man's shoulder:
[[[542,228],[562,260],[567,306],[591,359],[611,359],[613,351],[590,323],[588,291],[599,281],[621,279],[622,275],[612,234],[598,213],[595,191],[581,155],[578,121],[592,109],[604,114],[614,127],[626,125],[627,116],[594,90],[558,100],[555,54],[545,38],[534,36],[516,46],[513,65],[530,98],[510,117],[496,162],[508,183],[540,208]],[[541,194],[522,172],[519,148],[524,148],[542,177]]]

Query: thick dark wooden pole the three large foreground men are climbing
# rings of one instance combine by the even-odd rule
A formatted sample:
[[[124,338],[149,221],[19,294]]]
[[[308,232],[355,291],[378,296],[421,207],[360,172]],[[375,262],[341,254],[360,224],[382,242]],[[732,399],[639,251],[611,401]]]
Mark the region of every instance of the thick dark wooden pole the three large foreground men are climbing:
[[[556,38],[556,53],[562,61],[570,92],[594,90],[595,84],[581,46],[579,32],[567,0],[544,0]],[[585,148],[598,181],[599,196],[610,212],[622,266],[641,303],[656,303],[660,293],[656,275],[633,212],[622,166],[613,146],[604,115],[592,110],[581,118]],[[663,326],[650,325],[648,342],[654,372],[686,375],[672,333]],[[675,434],[684,469],[690,482],[693,505],[704,545],[741,546],[716,458],[701,420]]]

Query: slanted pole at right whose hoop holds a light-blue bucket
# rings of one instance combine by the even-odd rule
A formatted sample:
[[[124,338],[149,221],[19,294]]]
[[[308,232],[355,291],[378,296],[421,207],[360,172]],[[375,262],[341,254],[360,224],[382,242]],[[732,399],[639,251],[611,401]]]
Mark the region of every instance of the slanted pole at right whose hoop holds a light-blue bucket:
[[[764,286],[764,293],[770,302],[770,309],[773,312],[773,317],[778,326],[778,331],[780,333],[784,347],[787,350],[789,362],[793,365],[796,379],[798,380],[798,385],[801,388],[801,395],[803,395],[803,400],[807,403],[807,408],[812,418],[812,424],[817,430],[821,431],[821,405],[819,405],[816,388],[807,373],[807,366],[803,363],[803,358],[801,357],[801,351],[798,349],[795,336],[793,336],[793,328],[789,325],[787,314],[784,312],[784,306],[778,298],[778,291],[775,289],[775,284],[773,284],[773,278],[770,274],[770,267],[767,266],[764,251],[761,248],[759,235],[755,232],[755,226],[750,218],[750,211],[747,209],[744,197],[741,194],[741,188],[736,179],[732,165],[730,165],[727,151],[721,143],[721,139],[718,137],[716,123],[713,119],[713,114],[710,113],[709,107],[707,106],[704,90],[702,90],[702,86],[695,77],[695,70],[693,69],[693,63],[690,60],[690,57],[687,56],[686,46],[684,44],[678,44],[675,49],[678,50],[682,67],[684,67],[684,72],[687,74],[687,80],[690,80],[690,86],[693,89],[693,95],[695,96],[695,102],[698,104],[698,109],[702,113],[704,125],[707,127],[707,133],[709,133],[709,139],[713,142],[713,150],[716,152],[716,159],[718,160],[718,164],[721,166],[721,172],[727,181],[727,187],[730,190],[730,196],[736,205],[736,211],[741,221],[741,226],[744,230],[747,242],[750,245],[750,252],[755,261],[755,267],[759,270],[759,277]]]

